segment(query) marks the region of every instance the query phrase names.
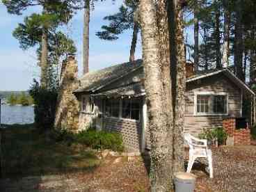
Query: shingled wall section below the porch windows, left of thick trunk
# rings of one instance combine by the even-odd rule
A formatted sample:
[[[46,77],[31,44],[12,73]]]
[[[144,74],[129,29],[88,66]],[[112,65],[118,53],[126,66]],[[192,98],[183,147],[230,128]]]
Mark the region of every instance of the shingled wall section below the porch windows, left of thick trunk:
[[[122,134],[125,150],[139,152],[141,150],[141,122],[119,118],[104,118],[104,129]]]

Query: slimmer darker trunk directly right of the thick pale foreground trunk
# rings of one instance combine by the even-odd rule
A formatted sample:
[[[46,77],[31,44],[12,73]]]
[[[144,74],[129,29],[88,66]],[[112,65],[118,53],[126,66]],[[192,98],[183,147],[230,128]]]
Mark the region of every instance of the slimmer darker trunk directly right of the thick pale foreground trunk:
[[[177,0],[173,0],[177,1]],[[184,172],[184,114],[186,89],[186,60],[184,57],[183,14],[180,3],[175,3],[175,105],[173,127],[173,173]]]

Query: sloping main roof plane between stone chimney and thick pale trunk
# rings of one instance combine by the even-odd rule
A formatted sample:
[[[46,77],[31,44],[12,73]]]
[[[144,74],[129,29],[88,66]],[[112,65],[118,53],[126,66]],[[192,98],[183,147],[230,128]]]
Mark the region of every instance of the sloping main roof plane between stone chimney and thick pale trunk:
[[[75,90],[74,93],[95,92],[96,90],[99,90],[109,83],[124,77],[126,74],[133,72],[142,66],[142,60],[137,60],[134,62],[113,65],[95,72],[89,72],[79,79],[81,86],[79,89]]]

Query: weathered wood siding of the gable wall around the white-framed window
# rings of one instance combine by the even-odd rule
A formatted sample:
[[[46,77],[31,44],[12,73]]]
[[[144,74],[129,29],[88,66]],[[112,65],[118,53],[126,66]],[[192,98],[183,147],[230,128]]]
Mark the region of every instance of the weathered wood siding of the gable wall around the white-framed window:
[[[228,115],[194,115],[195,93],[213,91],[214,93],[227,93],[228,95]],[[222,74],[187,83],[186,85],[186,132],[197,135],[202,129],[222,126],[224,117],[241,116],[241,90]]]

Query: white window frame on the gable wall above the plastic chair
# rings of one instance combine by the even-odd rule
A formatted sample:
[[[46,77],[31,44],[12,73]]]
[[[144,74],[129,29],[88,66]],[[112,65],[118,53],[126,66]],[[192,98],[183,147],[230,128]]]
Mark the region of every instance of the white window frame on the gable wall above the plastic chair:
[[[209,100],[209,113],[198,113],[197,112],[197,106],[198,106],[198,95],[210,95],[210,100]],[[212,96],[226,96],[226,113],[214,113],[214,99],[212,99]],[[226,92],[219,92],[216,93],[214,91],[205,91],[205,92],[195,92],[194,93],[194,116],[214,116],[214,115],[228,115],[229,111],[229,95]]]

